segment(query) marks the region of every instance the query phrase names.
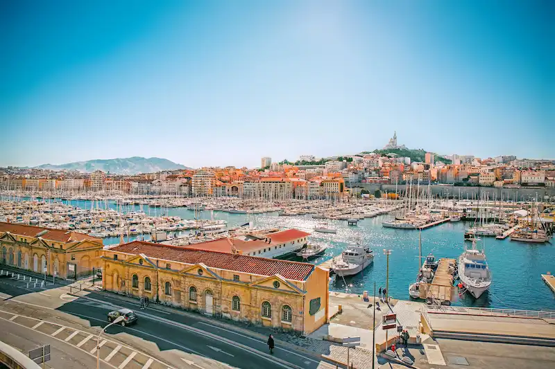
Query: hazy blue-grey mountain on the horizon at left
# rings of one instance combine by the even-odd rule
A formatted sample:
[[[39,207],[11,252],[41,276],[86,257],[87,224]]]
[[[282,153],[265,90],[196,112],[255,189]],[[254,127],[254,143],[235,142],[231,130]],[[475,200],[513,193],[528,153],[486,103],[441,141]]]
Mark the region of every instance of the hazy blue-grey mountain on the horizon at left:
[[[87,161],[76,161],[74,163],[53,165],[43,164],[35,167],[37,169],[48,170],[78,170],[79,172],[94,172],[102,170],[113,174],[137,174],[160,172],[161,170],[190,169],[185,165],[173,163],[168,159],[142,158],[133,156],[132,158],[118,159],[95,159]]]

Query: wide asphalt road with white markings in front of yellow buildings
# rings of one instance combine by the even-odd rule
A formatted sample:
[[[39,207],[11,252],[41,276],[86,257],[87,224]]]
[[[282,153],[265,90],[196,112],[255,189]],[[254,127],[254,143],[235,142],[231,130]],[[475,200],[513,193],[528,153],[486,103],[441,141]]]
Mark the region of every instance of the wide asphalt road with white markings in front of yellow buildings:
[[[137,310],[137,305],[105,296],[77,298],[68,287],[27,287],[22,280],[0,279],[0,329],[10,333],[6,343],[24,352],[50,343],[52,368],[94,368],[96,335],[108,323],[106,314],[119,307],[133,309],[139,321],[108,327],[100,341],[101,368],[335,367],[296,350],[278,348],[270,355],[265,341],[201,321],[195,314]]]

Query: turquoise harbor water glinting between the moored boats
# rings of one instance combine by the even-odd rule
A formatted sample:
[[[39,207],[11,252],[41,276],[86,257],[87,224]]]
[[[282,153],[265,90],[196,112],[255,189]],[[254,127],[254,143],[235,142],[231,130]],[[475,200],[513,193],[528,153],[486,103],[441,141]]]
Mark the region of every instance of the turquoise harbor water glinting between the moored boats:
[[[68,201],[64,201],[67,203]],[[90,201],[69,201],[71,205],[91,208]],[[115,208],[113,201],[110,208]],[[127,206],[125,210],[139,211],[139,206]],[[144,206],[145,213],[149,212]],[[151,208],[151,215],[160,215],[165,209]],[[168,215],[177,215],[183,219],[194,219],[194,211],[187,208],[169,208]],[[201,213],[203,219],[225,219],[229,226],[237,226],[248,222],[245,214],[229,214],[219,211],[205,210]],[[375,258],[364,273],[352,278],[345,278],[347,285],[341,278],[330,282],[330,289],[348,291],[361,294],[371,292],[373,284],[377,287],[386,285],[386,256],[383,249],[391,249],[389,257],[389,294],[393,298],[408,299],[409,285],[414,282],[418,271],[418,231],[384,228],[382,220],[388,215],[359,221],[357,226],[347,226],[346,221],[330,220],[328,224],[337,228],[336,234],[313,233],[311,242],[323,242],[330,247],[325,254],[316,260],[319,264],[341,253],[349,244],[357,241],[368,244],[374,250]],[[311,232],[319,219],[312,219],[310,215],[298,217],[279,217],[275,213],[250,215],[255,226],[298,228]],[[436,258],[458,258],[463,251],[463,233],[470,223],[456,222],[441,224],[422,231],[422,255],[434,253]],[[133,239],[133,237],[132,237]],[[484,237],[486,255],[490,270],[493,273],[493,283],[490,290],[478,300],[469,296],[457,300],[454,305],[475,307],[496,307],[511,309],[555,309],[555,294],[541,279],[540,274],[547,271],[555,272],[555,246],[553,244],[526,244],[495,238]],[[119,238],[106,238],[105,244],[119,242]],[[479,248],[482,245],[479,244]]]

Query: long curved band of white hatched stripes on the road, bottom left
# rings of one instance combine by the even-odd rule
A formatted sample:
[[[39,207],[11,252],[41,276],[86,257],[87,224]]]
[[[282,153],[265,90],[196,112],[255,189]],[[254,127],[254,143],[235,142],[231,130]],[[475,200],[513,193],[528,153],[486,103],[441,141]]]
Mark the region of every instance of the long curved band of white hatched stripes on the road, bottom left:
[[[139,352],[134,348],[122,345],[117,341],[112,341],[102,337],[96,343],[96,334],[91,334],[73,327],[67,327],[58,323],[43,321],[30,316],[24,316],[0,310],[0,320],[10,321],[17,325],[22,325],[36,332],[51,336],[53,339],[69,343],[79,350],[96,356],[99,351],[101,361],[107,363],[111,368],[117,369],[175,369],[167,363],[151,357],[150,355]]]

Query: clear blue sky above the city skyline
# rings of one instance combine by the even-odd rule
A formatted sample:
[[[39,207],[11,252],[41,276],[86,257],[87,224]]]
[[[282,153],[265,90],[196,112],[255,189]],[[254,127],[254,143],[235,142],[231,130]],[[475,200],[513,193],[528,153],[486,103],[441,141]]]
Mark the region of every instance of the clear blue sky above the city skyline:
[[[2,1],[0,166],[555,158],[555,2]]]

